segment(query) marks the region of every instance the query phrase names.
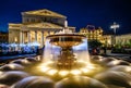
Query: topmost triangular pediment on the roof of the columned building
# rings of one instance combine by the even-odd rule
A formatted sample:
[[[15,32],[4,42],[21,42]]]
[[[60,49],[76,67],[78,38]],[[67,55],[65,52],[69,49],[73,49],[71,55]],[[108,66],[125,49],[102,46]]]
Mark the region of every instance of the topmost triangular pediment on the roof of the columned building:
[[[44,16],[57,16],[57,17],[63,17],[67,18],[67,16],[61,15],[59,13],[49,11],[47,9],[43,10],[35,10],[35,11],[27,11],[27,12],[22,12],[22,14],[29,14],[29,15],[44,15]]]

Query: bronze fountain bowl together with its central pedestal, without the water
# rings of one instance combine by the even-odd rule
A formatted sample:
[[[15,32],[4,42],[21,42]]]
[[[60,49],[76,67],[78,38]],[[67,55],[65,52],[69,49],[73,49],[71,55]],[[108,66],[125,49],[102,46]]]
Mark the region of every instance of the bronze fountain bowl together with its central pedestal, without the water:
[[[85,38],[78,34],[58,34],[47,37],[50,39],[50,43],[59,46],[61,48],[60,55],[57,61],[58,68],[72,68],[76,62],[74,58],[72,47],[82,43],[82,39]]]

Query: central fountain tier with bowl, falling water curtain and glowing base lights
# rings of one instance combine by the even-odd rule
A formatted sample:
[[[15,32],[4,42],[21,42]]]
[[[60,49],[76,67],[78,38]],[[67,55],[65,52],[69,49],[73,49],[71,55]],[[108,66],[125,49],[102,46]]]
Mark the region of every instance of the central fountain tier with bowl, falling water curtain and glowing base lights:
[[[99,70],[93,72],[96,66]],[[57,76],[57,79],[71,75],[90,75],[87,73],[94,74],[103,70],[100,65],[90,62],[86,37],[69,30],[67,24],[60,33],[47,36],[44,60],[36,68],[49,77]]]

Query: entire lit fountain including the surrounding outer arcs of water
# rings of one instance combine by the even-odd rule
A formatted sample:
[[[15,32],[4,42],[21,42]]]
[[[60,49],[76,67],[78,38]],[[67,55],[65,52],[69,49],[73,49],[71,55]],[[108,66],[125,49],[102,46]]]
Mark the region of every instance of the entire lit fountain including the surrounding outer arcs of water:
[[[131,88],[131,64],[100,55],[90,58],[87,39],[71,33],[66,22],[62,32],[47,36],[44,59],[20,59],[1,66],[0,87]]]

